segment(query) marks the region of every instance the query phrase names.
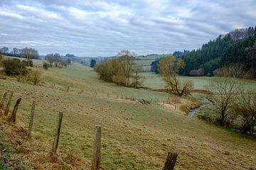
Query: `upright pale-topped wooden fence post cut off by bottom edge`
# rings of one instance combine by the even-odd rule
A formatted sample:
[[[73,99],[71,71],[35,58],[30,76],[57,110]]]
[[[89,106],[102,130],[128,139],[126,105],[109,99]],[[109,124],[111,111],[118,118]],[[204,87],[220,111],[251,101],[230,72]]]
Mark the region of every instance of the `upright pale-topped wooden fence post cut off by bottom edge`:
[[[93,144],[92,169],[100,169],[100,142],[101,142],[101,125],[95,125],[95,141]]]

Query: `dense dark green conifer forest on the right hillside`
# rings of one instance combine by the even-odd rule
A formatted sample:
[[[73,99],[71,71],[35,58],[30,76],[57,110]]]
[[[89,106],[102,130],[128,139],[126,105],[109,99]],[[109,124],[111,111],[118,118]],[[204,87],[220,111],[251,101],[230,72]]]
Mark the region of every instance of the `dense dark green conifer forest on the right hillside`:
[[[239,63],[245,66],[247,78],[255,79],[256,69],[256,28],[235,30],[227,35],[220,35],[210,40],[198,50],[192,50],[180,57],[186,67],[179,70],[181,75],[198,76],[198,69],[203,69],[201,75],[213,75],[215,69],[228,64]]]

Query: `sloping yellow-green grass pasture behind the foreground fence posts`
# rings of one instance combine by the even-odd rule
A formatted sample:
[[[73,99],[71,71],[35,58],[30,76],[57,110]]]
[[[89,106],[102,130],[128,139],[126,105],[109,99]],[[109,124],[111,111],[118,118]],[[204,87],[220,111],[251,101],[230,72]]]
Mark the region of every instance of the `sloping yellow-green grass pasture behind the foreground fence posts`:
[[[0,161],[0,167],[19,164],[23,169],[90,169],[94,125],[102,125],[102,169],[162,169],[169,151],[178,153],[176,169],[256,169],[255,139],[165,108],[159,104],[167,97],[164,93],[101,81],[92,69],[78,64],[41,70],[40,86],[0,79],[1,95],[15,91],[11,106],[22,98],[15,127],[1,115],[0,149],[7,149],[0,158],[8,161]],[[144,75],[144,86],[164,86],[156,74]],[[191,79],[201,89],[210,78]],[[67,86],[70,91],[65,91]],[[152,103],[142,105],[121,99],[121,95]],[[28,128],[33,100],[33,134],[27,141],[20,127]],[[48,153],[60,111],[64,113],[57,152],[60,161],[52,162]]]

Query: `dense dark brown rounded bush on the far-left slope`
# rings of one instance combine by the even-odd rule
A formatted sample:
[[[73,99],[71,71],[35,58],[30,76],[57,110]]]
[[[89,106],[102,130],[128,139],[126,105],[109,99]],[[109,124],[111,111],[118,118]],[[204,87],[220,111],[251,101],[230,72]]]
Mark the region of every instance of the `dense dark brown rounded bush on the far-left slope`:
[[[6,59],[3,61],[4,72],[9,75],[25,75],[28,73],[26,64],[18,59]]]

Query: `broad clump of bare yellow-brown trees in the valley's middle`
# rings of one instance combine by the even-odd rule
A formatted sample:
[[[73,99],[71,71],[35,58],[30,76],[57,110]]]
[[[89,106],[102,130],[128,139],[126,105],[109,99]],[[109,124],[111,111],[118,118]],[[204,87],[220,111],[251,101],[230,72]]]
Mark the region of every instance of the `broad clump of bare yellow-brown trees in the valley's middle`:
[[[100,79],[122,86],[139,88],[142,84],[141,67],[135,64],[137,55],[124,50],[110,59],[95,65],[95,72]]]

